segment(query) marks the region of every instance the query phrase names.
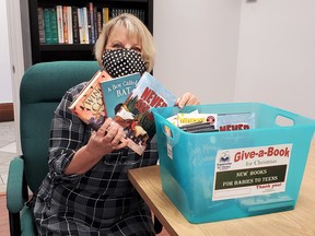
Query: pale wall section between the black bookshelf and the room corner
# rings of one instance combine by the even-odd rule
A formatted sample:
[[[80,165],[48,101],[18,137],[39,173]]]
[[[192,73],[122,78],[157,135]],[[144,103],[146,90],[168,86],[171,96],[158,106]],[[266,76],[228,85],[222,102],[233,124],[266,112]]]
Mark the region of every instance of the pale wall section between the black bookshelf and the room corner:
[[[154,75],[177,96],[186,91],[202,103],[234,98],[240,1],[155,0]]]

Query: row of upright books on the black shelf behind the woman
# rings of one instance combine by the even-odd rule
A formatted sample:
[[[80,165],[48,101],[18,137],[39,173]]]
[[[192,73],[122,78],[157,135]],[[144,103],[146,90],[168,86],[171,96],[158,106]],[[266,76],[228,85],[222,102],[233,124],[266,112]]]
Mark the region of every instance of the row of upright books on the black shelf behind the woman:
[[[121,13],[131,13],[144,22],[144,10],[56,5],[37,8],[39,44],[95,44],[103,25]]]

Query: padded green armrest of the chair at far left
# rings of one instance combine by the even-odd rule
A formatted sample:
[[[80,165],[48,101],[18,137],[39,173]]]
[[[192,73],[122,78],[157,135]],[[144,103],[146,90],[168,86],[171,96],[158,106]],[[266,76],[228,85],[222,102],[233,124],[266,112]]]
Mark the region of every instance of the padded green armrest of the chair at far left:
[[[7,208],[11,213],[19,213],[24,206],[23,198],[24,160],[14,157],[10,162],[7,182]]]

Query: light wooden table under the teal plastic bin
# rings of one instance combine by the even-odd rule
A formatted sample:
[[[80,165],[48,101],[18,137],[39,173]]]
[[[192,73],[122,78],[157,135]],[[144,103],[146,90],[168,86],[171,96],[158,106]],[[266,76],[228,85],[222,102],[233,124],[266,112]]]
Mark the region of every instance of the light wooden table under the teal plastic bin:
[[[190,224],[162,191],[159,166],[132,169],[129,179],[171,235],[315,236],[315,144],[312,144],[293,211]]]

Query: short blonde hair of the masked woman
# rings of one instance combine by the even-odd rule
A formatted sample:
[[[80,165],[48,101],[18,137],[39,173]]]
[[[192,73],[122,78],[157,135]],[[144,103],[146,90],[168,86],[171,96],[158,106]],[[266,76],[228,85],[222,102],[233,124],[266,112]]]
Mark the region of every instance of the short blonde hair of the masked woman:
[[[153,36],[138,17],[129,13],[120,14],[104,25],[94,47],[95,59],[103,66],[102,56],[107,45],[108,37],[116,25],[125,26],[127,34],[137,35],[139,37],[141,42],[141,56],[145,61],[145,69],[148,72],[151,72],[155,59]]]

